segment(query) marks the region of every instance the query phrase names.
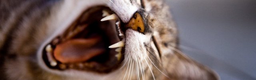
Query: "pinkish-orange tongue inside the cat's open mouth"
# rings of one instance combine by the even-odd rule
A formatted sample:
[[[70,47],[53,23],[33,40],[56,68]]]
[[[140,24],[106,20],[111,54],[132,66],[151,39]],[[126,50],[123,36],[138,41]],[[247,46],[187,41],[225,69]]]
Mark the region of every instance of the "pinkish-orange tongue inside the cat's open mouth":
[[[68,40],[56,46],[54,57],[62,63],[87,61],[105,52],[104,48],[95,46],[100,40],[100,37]]]

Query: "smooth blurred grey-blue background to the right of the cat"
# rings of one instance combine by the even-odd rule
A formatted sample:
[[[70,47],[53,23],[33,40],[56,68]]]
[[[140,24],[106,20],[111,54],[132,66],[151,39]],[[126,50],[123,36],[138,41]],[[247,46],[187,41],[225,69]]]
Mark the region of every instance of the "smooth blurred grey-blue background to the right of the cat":
[[[221,80],[256,80],[256,0],[167,0],[180,48]]]

